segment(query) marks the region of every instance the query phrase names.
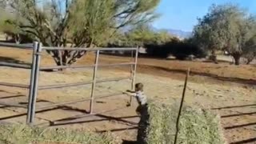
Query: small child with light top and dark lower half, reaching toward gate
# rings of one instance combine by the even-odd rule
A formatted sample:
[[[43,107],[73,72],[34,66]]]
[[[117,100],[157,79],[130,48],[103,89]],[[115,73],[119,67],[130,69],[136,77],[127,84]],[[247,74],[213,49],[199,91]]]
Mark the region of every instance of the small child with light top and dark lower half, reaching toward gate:
[[[136,112],[141,116],[141,119],[138,122],[137,141],[138,143],[146,144],[146,128],[149,126],[150,115],[148,113],[146,95],[143,93],[143,84],[137,83],[135,85],[135,91],[126,91],[130,93],[129,95],[132,95],[137,99],[138,107],[136,109]]]

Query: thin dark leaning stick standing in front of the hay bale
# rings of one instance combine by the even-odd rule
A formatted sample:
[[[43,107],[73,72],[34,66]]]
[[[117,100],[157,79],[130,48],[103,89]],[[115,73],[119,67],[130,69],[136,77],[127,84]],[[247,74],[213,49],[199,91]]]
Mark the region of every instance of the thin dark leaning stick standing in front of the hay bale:
[[[176,134],[175,134],[174,144],[177,143],[177,139],[178,139],[179,118],[182,114],[182,106],[183,106],[183,102],[184,102],[184,98],[185,98],[185,94],[186,94],[186,83],[187,83],[187,79],[189,78],[189,75],[190,75],[190,68],[186,72],[186,79],[185,79],[185,84],[184,84],[183,93],[182,93],[182,101],[181,101],[181,104],[180,104],[180,107],[178,110],[178,118],[176,121]]]

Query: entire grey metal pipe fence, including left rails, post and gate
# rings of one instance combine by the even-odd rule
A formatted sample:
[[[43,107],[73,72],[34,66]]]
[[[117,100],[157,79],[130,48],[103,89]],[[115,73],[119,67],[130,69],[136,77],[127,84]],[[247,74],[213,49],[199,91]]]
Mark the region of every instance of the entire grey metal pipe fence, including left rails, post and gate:
[[[90,101],[90,115],[94,115],[94,100],[98,98],[107,98],[112,96],[117,96],[122,94],[121,92],[118,94],[106,94],[98,98],[94,98],[94,91],[95,86],[97,83],[103,83],[103,82],[115,82],[115,81],[121,81],[130,79],[131,80],[131,90],[134,90],[134,82],[135,82],[135,74],[136,74],[136,67],[137,67],[137,61],[138,61],[138,47],[137,48],[70,48],[70,47],[46,47],[42,46],[39,42],[34,42],[33,44],[13,44],[13,43],[6,43],[6,42],[0,42],[0,46],[10,47],[10,48],[18,48],[18,49],[30,49],[33,50],[32,55],[32,62],[31,66],[22,66],[21,64],[16,63],[10,63],[10,62],[0,62],[3,66],[12,66],[15,68],[26,68],[30,69],[30,84],[19,84],[19,83],[11,83],[11,82],[0,82],[0,86],[10,86],[10,87],[16,87],[16,88],[23,88],[28,89],[28,105],[27,106],[18,106],[27,108],[27,116],[26,116],[26,123],[32,124],[34,122],[34,115],[36,111],[36,100],[38,96],[38,90],[50,90],[50,89],[58,89],[58,88],[65,88],[65,87],[71,87],[71,86],[84,86],[84,85],[91,85],[91,92],[90,92],[90,98],[84,98],[80,99],[74,102],[62,102],[62,103],[55,103],[51,106],[40,106],[37,109],[46,109],[49,107],[54,106],[63,106],[63,105],[70,105],[77,102],[86,102]],[[94,51],[95,52],[95,60],[93,65],[86,65],[86,66],[40,66],[41,62],[41,56],[43,50],[85,50],[85,51]],[[132,62],[125,62],[125,63],[114,63],[114,64],[99,64],[98,58],[100,56],[101,51],[113,51],[113,50],[122,50],[122,51],[131,51],[131,58]],[[135,51],[135,53],[134,53]],[[111,66],[130,66],[130,76],[124,77],[124,78],[106,78],[106,79],[97,79],[97,71],[98,67],[111,67]],[[48,86],[38,86],[38,76],[40,73],[40,70],[60,70],[60,69],[66,69],[66,68],[72,68],[72,69],[80,69],[80,68],[93,68],[93,78],[89,82],[75,82],[75,83],[63,83],[63,84],[56,84],[56,85],[48,85]],[[130,103],[132,102],[132,97],[130,97]],[[2,102],[0,102],[1,105]],[[3,103],[2,103],[3,104]],[[7,104],[4,103],[6,106],[16,106],[14,104]],[[108,112],[110,110],[98,112],[97,114],[102,114],[104,112]]]

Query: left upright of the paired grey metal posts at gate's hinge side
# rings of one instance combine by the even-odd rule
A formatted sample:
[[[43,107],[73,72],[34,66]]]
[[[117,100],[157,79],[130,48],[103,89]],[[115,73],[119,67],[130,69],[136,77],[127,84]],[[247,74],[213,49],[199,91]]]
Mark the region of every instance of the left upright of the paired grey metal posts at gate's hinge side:
[[[32,64],[31,64],[31,71],[30,71],[30,92],[29,92],[29,98],[28,98],[28,106],[27,106],[27,114],[26,114],[26,123],[30,123],[30,117],[31,117],[31,103],[33,98],[33,90],[34,90],[34,71],[35,71],[35,65],[36,65],[36,57],[37,57],[37,51],[38,51],[38,42],[34,42],[34,48],[33,48],[33,54],[32,54]]]

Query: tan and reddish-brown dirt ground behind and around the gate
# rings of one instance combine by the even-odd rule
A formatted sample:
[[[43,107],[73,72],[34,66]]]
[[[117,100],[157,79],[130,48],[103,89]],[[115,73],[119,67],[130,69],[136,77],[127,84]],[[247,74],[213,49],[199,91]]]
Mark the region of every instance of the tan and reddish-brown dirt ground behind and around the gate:
[[[0,48],[0,62],[14,62],[30,65],[30,50]],[[100,63],[128,62],[128,57],[101,55]],[[94,62],[93,54],[78,61],[77,65]],[[42,54],[41,66],[54,65],[52,58]],[[146,94],[156,102],[166,99],[179,100],[182,94],[186,69],[191,74],[186,92],[188,105],[200,106],[217,111],[221,116],[226,139],[230,143],[256,143],[256,67],[253,65],[233,66],[229,62],[187,62],[153,58],[138,59],[136,82],[143,82]],[[98,71],[98,79],[130,76],[130,67],[104,68]],[[30,70],[1,66],[0,82],[28,84]],[[92,79],[92,70],[65,70],[62,72],[40,72],[39,86],[50,84],[85,82]],[[117,94],[115,97],[97,99],[94,113],[88,116],[90,102],[78,102],[58,107],[41,108],[58,102],[70,102],[90,98],[90,86],[76,86],[56,90],[39,90],[35,125],[64,126],[74,129],[88,129],[96,132],[112,131],[120,140],[133,141],[136,138],[138,116],[134,112],[134,101],[126,106],[129,97],[120,94],[130,89],[130,80],[100,83],[95,97]],[[0,102],[26,106],[28,91],[0,86]],[[0,121],[26,122],[26,109],[0,105]],[[119,109],[119,110],[116,110]],[[109,110],[109,111],[108,111]],[[111,111],[114,110],[114,111]]]

